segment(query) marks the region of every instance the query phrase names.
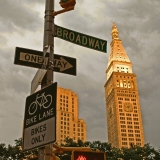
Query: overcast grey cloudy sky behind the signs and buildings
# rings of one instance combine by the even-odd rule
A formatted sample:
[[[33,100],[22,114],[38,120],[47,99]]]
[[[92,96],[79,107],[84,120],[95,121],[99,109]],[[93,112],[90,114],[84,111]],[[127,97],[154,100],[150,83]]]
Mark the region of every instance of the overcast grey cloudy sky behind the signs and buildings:
[[[0,143],[22,136],[26,97],[35,68],[14,65],[15,47],[43,49],[45,0],[0,0]],[[55,53],[77,59],[77,76],[54,74],[76,92],[87,140],[107,142],[104,84],[114,21],[137,75],[145,143],[160,147],[160,1],[77,0],[75,10],[56,16],[59,26],[107,40],[107,53],[55,38]],[[55,10],[60,10],[55,0]]]

